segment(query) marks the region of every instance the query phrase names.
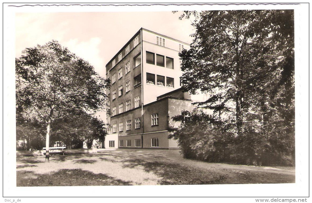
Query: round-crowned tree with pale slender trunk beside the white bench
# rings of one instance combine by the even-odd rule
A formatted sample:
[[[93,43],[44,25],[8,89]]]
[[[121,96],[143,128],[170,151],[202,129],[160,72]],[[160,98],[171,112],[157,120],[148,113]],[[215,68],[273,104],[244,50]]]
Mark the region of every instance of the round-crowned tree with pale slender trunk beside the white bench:
[[[57,41],[26,48],[23,54],[16,59],[17,110],[25,120],[46,124],[49,161],[51,122],[77,110],[92,113],[104,108],[109,83]]]

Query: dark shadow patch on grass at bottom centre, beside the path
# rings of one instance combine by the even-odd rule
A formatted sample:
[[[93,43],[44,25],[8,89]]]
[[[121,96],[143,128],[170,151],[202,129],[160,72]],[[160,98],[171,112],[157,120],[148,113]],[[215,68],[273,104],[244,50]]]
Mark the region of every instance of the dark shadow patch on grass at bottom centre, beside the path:
[[[179,164],[147,162],[143,160],[133,159],[124,164],[124,168],[134,168],[143,166],[146,172],[163,177],[159,181],[160,185],[203,185],[218,184],[225,177],[211,171],[204,171],[195,168],[181,166]]]

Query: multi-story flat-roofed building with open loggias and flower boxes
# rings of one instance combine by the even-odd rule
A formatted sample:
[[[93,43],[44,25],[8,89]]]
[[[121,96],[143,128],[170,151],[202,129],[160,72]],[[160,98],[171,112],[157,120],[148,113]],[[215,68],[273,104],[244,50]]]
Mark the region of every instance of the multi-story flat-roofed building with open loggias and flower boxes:
[[[168,140],[171,118],[195,107],[181,90],[183,48],[189,44],[141,28],[107,63],[111,129],[105,148],[177,149]]]

